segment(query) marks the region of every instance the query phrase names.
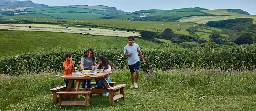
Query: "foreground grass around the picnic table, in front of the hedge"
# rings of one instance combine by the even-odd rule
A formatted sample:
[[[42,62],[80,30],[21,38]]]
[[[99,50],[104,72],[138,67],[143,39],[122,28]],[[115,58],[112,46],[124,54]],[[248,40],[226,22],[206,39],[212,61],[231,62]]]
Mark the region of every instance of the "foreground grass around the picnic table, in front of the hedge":
[[[0,76],[0,110],[255,110],[256,86],[254,71],[217,69],[140,70],[139,89],[130,89],[128,69],[113,69],[111,81],[126,84],[125,100],[114,105],[108,97],[92,95],[85,106],[63,106],[52,102],[49,89],[64,85],[63,72],[42,72],[28,75]],[[92,81],[93,82],[93,81]],[[81,87],[81,86],[80,86]],[[117,93],[118,94],[118,93]],[[68,101],[73,101],[69,99]],[[78,101],[84,101],[79,96]]]

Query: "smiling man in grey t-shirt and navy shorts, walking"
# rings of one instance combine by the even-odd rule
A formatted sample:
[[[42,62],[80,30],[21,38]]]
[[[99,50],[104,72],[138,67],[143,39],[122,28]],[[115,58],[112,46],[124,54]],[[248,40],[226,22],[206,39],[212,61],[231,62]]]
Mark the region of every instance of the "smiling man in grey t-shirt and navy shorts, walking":
[[[130,88],[139,88],[138,84],[137,84],[137,80],[139,78],[139,70],[140,70],[140,58],[138,56],[138,52],[140,54],[140,57],[143,61],[143,64],[146,64],[143,55],[140,51],[140,47],[138,44],[133,43],[134,42],[134,37],[133,36],[129,36],[128,37],[128,42],[129,44],[127,44],[124,47],[124,56],[128,56],[128,66],[131,72],[131,79],[132,79],[132,86]],[[135,84],[134,84],[134,69],[135,69]]]

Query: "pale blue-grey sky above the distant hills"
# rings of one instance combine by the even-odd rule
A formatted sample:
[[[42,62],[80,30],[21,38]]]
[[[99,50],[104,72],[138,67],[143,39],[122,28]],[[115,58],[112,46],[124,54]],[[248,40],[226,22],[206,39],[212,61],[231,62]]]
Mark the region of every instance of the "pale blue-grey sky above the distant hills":
[[[212,9],[242,9],[256,15],[256,0],[32,0],[48,6],[104,5],[117,10],[134,12],[148,9],[180,9],[200,7]]]

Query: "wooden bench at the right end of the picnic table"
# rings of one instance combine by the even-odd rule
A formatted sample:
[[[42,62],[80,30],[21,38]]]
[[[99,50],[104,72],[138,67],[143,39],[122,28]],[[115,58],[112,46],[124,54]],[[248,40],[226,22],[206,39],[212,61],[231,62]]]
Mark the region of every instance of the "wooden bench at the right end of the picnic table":
[[[119,84],[116,85],[114,87],[110,87],[107,90],[109,90],[109,103],[110,104],[114,104],[114,101],[121,98],[124,100],[124,87],[126,86],[126,84]],[[115,95],[116,90],[120,89],[120,94],[119,95]]]

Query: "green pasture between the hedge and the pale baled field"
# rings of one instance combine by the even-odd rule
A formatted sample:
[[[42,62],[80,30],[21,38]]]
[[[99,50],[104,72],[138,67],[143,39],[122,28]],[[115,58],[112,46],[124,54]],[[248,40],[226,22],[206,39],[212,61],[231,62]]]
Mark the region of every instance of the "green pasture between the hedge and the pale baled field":
[[[38,51],[39,47],[49,49],[52,46],[58,45],[69,48],[76,48],[80,46],[92,48],[106,46],[123,48],[128,44],[127,38],[124,37],[92,37],[73,33],[36,31],[0,31],[0,33],[0,40],[2,41],[2,44],[0,44],[1,57],[5,55],[16,55],[24,51]],[[157,48],[159,46],[158,43],[143,39],[135,39],[135,43],[139,44],[141,48]]]

